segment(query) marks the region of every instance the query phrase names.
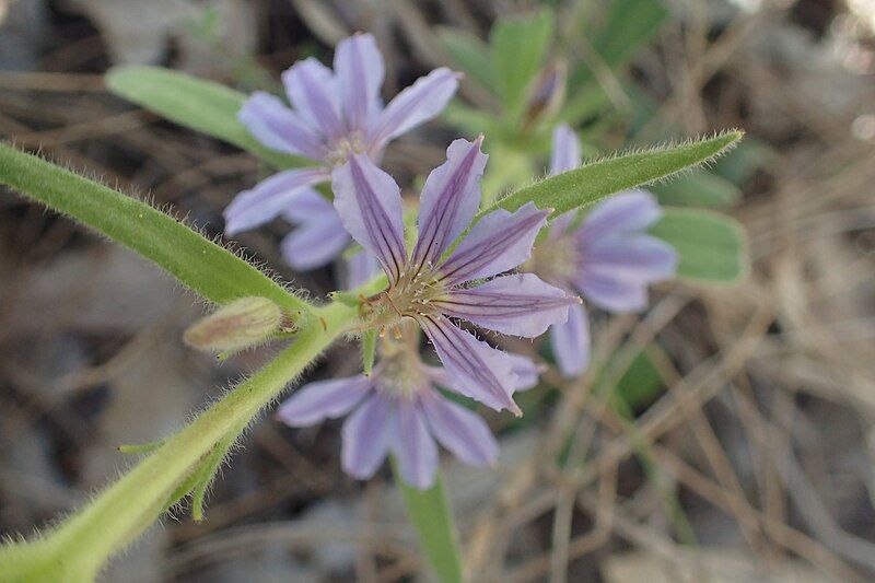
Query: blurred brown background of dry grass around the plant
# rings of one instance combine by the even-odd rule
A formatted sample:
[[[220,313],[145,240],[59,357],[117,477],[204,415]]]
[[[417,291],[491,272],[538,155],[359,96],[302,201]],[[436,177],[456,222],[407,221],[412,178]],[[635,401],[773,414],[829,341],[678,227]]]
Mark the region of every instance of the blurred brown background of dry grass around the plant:
[[[686,183],[693,194],[665,196],[737,218],[751,267],[734,285],[678,281],[654,291],[648,314],[598,318],[596,351],[615,354],[607,372],[548,374],[525,395],[522,420],[487,416],[499,467],[445,459],[471,580],[872,580],[875,2],[546,4],[557,28],[545,70],[568,71],[587,155],[747,131],[709,178]],[[477,47],[497,20],[541,9],[0,0],[0,136],[218,236],[224,206],[266,168],[109,95],[109,67],[156,63],[275,90],[293,61],[330,60],[337,40],[370,31],[392,96],[436,66],[462,68],[459,39]],[[477,81],[466,78],[443,120],[389,147],[385,166],[400,184],[439,164],[459,131],[489,127],[475,108],[500,117]],[[512,156],[505,138],[495,143]],[[525,148],[542,173],[544,148]],[[283,266],[288,229],[276,221],[237,244],[324,296],[335,273]],[[275,350],[220,365],[186,349],[182,330],[201,313],[135,255],[3,191],[0,534],[74,508],[131,463],[119,444],[179,428]],[[359,362],[354,346],[336,346],[310,377],[351,375]],[[388,473],[359,483],[340,471],[338,427],[292,431],[266,416],[214,485],[207,520],[177,510],[104,579],[428,579]],[[565,433],[568,459],[545,460],[542,444]]]

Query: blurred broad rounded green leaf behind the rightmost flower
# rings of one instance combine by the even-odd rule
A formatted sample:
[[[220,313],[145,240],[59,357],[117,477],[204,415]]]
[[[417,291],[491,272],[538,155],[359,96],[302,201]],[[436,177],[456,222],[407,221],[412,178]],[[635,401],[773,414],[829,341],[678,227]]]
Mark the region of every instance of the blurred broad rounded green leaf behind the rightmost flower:
[[[680,255],[680,277],[735,283],[748,270],[744,229],[735,219],[700,209],[666,209],[651,233]]]

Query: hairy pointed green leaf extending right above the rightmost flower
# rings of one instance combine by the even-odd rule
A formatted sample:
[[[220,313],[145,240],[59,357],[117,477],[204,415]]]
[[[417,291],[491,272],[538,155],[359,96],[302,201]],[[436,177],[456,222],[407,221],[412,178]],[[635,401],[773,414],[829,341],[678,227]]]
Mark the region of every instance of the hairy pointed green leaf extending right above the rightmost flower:
[[[652,183],[713,160],[732,148],[743,135],[742,131],[728,131],[705,140],[590,162],[522,188],[480,211],[478,218],[495,207],[515,211],[529,201],[541,209],[555,209],[553,215],[558,217],[608,195]]]

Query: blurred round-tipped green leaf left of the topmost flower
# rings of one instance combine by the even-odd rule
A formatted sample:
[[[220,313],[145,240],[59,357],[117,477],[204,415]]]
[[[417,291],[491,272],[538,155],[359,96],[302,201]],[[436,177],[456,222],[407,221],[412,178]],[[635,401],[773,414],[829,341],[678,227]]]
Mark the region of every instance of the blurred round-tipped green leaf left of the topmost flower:
[[[248,96],[220,83],[163,67],[126,65],[106,73],[106,85],[119,97],[252,152],[275,167],[313,165],[305,159],[270,150],[253,138],[237,121],[237,112]]]

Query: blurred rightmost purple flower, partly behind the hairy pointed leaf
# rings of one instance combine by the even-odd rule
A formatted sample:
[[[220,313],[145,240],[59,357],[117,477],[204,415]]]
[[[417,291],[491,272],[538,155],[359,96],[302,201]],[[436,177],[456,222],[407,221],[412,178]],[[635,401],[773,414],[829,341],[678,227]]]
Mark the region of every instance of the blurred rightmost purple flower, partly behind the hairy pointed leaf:
[[[553,133],[550,174],[581,164],[580,143],[568,126]],[[559,217],[547,241],[529,263],[532,271],[608,312],[638,312],[648,305],[648,285],[668,279],[677,269],[677,253],[646,231],[662,215],[650,193],[616,195],[590,211],[580,224],[576,213]],[[568,320],[553,325],[550,343],[559,369],[574,376],[590,361],[590,325],[582,305],[571,306]]]

